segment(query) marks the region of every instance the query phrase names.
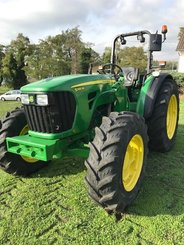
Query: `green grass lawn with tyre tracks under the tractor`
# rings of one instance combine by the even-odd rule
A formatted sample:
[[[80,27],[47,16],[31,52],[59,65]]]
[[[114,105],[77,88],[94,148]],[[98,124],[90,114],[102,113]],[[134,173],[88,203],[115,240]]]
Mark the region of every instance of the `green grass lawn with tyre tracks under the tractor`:
[[[0,102],[3,113],[17,102]],[[184,244],[184,101],[174,149],[150,153],[137,199],[120,221],[96,206],[84,160],[65,158],[29,178],[0,171],[0,244]]]

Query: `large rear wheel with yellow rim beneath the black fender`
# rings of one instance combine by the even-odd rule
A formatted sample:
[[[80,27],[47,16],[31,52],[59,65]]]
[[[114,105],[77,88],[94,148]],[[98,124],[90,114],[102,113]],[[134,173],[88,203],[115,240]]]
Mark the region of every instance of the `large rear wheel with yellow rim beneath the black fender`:
[[[176,82],[167,79],[157,95],[151,118],[147,120],[149,148],[167,152],[176,139],[179,119],[179,93]]]

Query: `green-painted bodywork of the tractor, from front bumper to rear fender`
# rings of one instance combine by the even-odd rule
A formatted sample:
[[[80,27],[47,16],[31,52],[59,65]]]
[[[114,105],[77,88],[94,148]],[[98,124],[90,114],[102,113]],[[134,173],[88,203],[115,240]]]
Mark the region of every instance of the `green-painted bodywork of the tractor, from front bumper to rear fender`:
[[[72,93],[76,101],[73,125],[60,133],[29,130],[28,135],[7,138],[8,151],[43,161],[64,156],[87,157],[89,148],[84,144],[93,140],[94,128],[101,124],[109,110],[144,114],[145,96],[152,79],[153,76],[149,76],[141,89],[129,88],[131,98],[124,78],[116,81],[110,75],[67,75],[28,84],[21,91],[30,97],[37,93]]]

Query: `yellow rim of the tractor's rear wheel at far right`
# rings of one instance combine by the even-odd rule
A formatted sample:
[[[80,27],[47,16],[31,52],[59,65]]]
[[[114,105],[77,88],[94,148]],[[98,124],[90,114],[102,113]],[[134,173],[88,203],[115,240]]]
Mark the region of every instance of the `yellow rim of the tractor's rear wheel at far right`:
[[[173,94],[169,100],[168,109],[167,109],[167,136],[169,139],[172,139],[177,123],[178,116],[178,104],[176,96]]]

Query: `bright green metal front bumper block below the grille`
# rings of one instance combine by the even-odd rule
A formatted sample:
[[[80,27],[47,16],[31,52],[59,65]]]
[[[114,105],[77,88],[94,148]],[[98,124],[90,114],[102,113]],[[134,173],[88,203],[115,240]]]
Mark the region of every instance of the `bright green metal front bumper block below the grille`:
[[[49,161],[64,156],[86,158],[89,154],[89,147],[81,145],[81,141],[76,141],[75,145],[70,146],[69,140],[48,140],[23,135],[12,138],[7,137],[6,142],[9,152],[41,161]]]

